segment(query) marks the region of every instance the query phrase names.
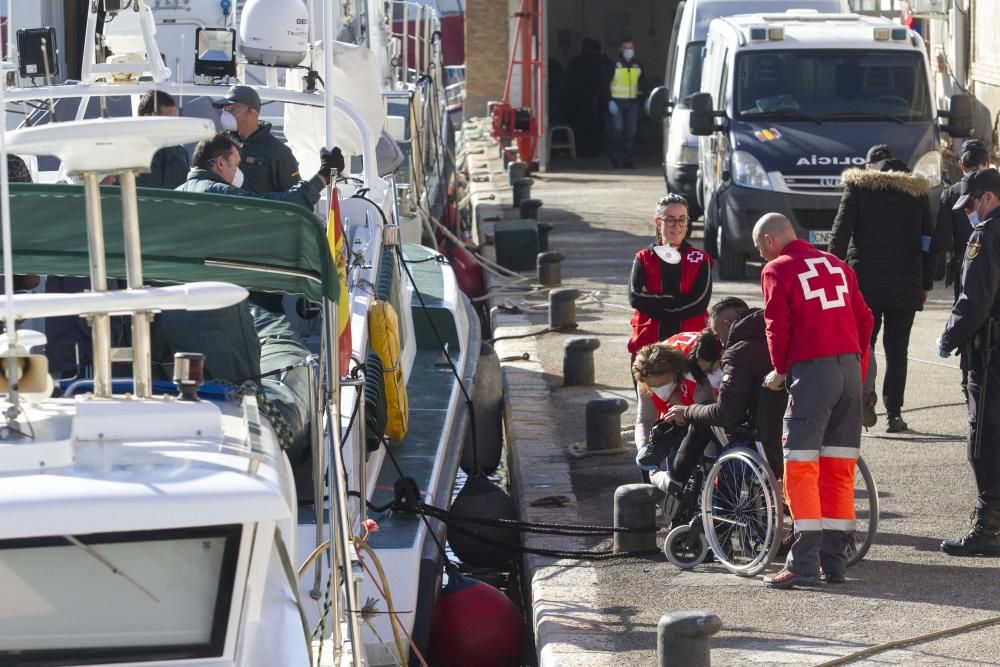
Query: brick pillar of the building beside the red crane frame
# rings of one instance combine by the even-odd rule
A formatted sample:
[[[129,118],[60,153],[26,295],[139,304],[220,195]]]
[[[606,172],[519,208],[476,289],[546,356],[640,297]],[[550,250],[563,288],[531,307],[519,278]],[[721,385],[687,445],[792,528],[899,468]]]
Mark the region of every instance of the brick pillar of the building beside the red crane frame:
[[[510,58],[507,2],[468,0],[465,5],[465,116],[486,115],[486,103],[503,96]]]

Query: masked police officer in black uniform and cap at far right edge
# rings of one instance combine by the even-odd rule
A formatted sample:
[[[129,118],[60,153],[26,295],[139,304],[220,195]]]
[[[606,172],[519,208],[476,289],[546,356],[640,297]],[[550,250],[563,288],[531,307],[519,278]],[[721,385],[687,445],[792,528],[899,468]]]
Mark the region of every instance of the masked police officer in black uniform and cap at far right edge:
[[[1000,173],[977,169],[962,179],[959,210],[979,217],[962,264],[962,293],[937,341],[962,353],[968,371],[969,462],[978,497],[972,529],[941,550],[952,556],[1000,556]]]

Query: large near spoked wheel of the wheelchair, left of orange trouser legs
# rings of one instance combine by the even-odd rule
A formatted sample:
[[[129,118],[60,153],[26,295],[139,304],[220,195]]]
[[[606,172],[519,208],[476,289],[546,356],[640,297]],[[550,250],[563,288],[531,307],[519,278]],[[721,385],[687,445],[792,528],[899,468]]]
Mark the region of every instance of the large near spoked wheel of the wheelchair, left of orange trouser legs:
[[[705,536],[726,568],[752,577],[774,560],[784,520],[778,482],[767,463],[734,447],[712,466],[701,498]]]

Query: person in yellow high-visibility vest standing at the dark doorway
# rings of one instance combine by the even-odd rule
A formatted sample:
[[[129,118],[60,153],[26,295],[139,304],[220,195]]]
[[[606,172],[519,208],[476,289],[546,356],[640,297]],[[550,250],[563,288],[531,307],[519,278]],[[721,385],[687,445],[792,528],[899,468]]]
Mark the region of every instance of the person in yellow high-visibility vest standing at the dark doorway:
[[[610,67],[608,113],[611,118],[611,166],[635,169],[632,144],[639,125],[639,101],[646,88],[642,64],[635,57],[635,42],[623,38],[618,59]]]

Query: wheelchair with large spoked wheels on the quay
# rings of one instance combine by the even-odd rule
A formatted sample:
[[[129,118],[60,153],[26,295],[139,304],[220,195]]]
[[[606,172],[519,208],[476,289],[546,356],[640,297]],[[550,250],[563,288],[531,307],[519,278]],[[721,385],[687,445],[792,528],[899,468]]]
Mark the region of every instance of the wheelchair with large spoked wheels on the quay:
[[[774,560],[782,541],[791,537],[781,485],[751,431],[737,432],[732,442],[722,429],[713,432],[715,443],[681,494],[663,553],[687,570],[705,562],[711,550],[733,574],[756,576]],[[854,480],[857,523],[849,539],[848,567],[864,558],[878,531],[878,490],[860,457]]]

